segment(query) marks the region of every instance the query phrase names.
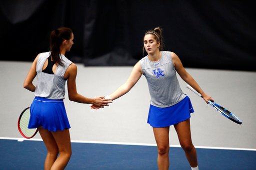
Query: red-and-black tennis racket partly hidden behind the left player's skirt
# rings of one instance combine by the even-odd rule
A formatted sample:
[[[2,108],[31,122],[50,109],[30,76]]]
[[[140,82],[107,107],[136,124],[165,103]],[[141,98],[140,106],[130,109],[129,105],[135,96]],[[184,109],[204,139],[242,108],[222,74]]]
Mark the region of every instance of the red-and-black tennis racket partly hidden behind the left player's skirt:
[[[18,118],[18,131],[26,139],[33,138],[38,132],[37,128],[28,129],[28,122],[30,118],[30,107],[25,108]]]

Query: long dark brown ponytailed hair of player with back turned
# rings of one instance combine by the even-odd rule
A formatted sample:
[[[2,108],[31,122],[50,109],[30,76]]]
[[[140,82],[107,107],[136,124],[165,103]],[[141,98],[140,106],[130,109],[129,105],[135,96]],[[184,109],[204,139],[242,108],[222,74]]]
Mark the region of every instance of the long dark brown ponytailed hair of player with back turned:
[[[64,40],[69,40],[72,36],[72,30],[67,27],[60,27],[51,31],[50,34],[50,56],[54,63],[64,66],[60,58],[60,46]]]

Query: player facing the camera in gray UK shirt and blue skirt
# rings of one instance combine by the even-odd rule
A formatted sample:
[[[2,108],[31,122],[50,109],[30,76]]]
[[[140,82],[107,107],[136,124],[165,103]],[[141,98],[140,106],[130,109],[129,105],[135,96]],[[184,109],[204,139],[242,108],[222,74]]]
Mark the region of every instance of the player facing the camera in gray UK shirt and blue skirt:
[[[158,150],[158,169],[168,170],[169,127],[173,125],[191,169],[198,170],[196,151],[190,134],[189,118],[193,108],[188,96],[180,89],[176,72],[202,95],[206,103],[208,100],[213,100],[185,71],[175,53],[163,51],[161,33],[162,30],[159,27],[145,33],[143,42],[148,55],[135,64],[127,81],[106,98],[115,100],[126,94],[143,74],[151,97],[147,123],[153,127]],[[91,108],[98,109],[99,107],[92,105]]]

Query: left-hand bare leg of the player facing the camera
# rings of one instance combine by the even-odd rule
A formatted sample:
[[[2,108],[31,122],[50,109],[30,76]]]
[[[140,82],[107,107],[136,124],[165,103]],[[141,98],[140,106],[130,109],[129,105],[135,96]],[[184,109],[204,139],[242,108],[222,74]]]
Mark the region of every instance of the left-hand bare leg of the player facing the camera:
[[[154,138],[157,144],[157,165],[158,170],[169,168],[169,127],[153,128]]]

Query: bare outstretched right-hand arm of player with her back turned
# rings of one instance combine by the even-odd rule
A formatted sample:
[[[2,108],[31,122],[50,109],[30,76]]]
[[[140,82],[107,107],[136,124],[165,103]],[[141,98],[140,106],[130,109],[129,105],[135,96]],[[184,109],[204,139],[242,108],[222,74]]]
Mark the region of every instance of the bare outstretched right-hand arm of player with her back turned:
[[[71,101],[78,102],[78,103],[87,103],[87,104],[93,104],[98,107],[104,107],[108,106],[107,101],[108,99],[103,99],[104,96],[101,97],[95,97],[95,98],[87,98],[77,93],[76,91],[76,74],[77,74],[77,67],[74,63],[70,64],[67,68],[64,78],[67,78],[67,90],[68,90],[68,98]]]

